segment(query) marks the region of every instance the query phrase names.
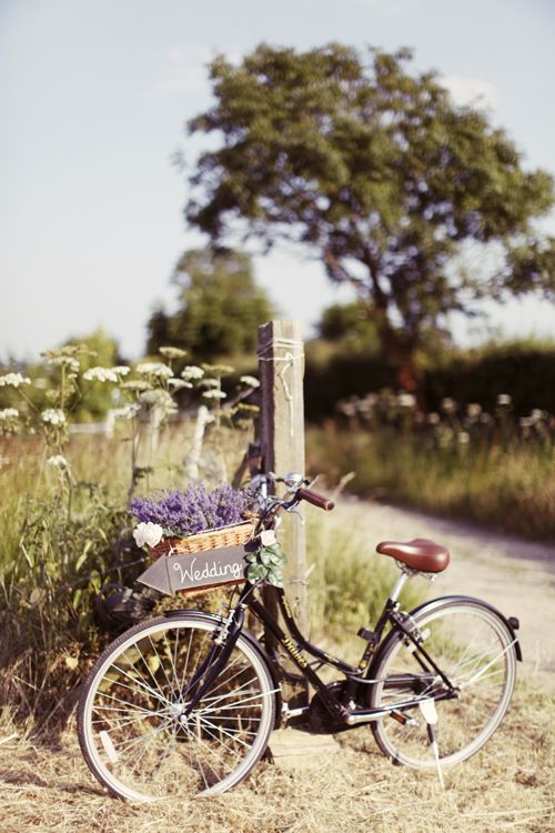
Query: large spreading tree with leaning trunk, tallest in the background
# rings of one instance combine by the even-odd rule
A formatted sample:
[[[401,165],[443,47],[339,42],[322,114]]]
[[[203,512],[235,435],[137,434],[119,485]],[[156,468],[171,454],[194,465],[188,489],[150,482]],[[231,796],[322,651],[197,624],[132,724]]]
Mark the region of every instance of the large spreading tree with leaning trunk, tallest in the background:
[[[356,289],[414,390],[422,333],[450,312],[553,295],[555,239],[533,227],[553,205],[552,177],[525,171],[502,129],[410,60],[336,43],[216,58],[215,104],[189,129],[222,141],[198,161],[185,215],[213,243],[242,231],[307,247]],[[470,244],[487,250],[486,274],[470,270]]]

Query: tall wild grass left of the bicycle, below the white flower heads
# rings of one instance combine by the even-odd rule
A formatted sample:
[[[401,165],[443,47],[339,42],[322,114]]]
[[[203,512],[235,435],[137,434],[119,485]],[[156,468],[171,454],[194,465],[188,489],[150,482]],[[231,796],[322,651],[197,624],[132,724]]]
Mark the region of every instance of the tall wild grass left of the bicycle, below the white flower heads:
[[[189,423],[162,431],[139,492],[186,485],[191,431]],[[245,443],[244,431],[208,436],[202,475],[210,482],[221,473],[223,449],[231,478]],[[0,704],[46,726],[71,709],[84,669],[109,639],[94,620],[95,595],[110,582],[132,585],[144,569],[127,511],[130,449],[119,439],[73,438],[65,448],[71,483],[44,464],[32,438],[4,439],[0,455]]]

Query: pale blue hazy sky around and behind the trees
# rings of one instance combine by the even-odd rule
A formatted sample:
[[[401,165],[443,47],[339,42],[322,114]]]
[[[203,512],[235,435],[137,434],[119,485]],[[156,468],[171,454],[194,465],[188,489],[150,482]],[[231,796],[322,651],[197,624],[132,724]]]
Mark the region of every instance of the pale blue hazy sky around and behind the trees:
[[[0,358],[99,327],[139,358],[180,254],[205,242],[172,158],[193,165],[202,147],[184,124],[210,106],[206,62],[332,40],[412,47],[458,101],[481,96],[526,168],[555,173],[552,0],[0,0]],[[302,250],[258,257],[255,273],[306,338],[351,298]],[[487,325],[453,319],[455,339],[555,332],[545,302],[488,311]]]

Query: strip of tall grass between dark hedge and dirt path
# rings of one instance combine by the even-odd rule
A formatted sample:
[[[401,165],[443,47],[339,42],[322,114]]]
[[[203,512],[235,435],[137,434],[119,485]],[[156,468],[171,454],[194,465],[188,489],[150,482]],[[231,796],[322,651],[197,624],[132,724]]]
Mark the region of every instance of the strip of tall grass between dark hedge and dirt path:
[[[466,436],[465,436],[466,439]],[[522,442],[497,436],[442,445],[398,426],[345,430],[335,423],[307,432],[311,471],[350,490],[465,518],[525,538],[555,539],[555,465],[549,436]]]

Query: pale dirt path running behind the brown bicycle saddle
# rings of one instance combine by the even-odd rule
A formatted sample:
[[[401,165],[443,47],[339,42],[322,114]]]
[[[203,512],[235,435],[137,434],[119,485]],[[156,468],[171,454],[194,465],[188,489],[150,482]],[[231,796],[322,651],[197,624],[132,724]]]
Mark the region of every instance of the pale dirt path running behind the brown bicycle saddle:
[[[555,546],[523,541],[471,523],[377,503],[341,501],[372,542],[431,538],[445,544],[451,564],[430,596],[475,595],[521,622],[523,674],[555,690]]]

